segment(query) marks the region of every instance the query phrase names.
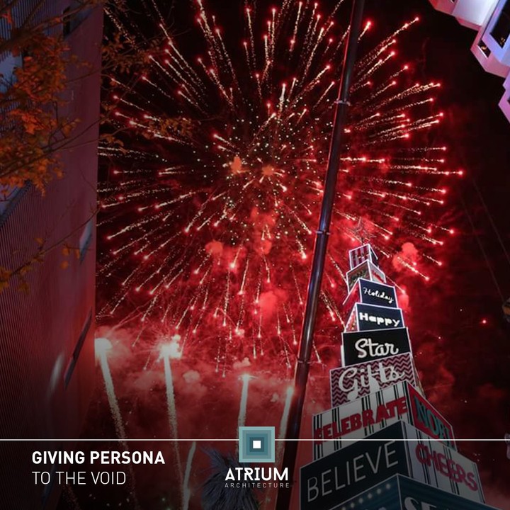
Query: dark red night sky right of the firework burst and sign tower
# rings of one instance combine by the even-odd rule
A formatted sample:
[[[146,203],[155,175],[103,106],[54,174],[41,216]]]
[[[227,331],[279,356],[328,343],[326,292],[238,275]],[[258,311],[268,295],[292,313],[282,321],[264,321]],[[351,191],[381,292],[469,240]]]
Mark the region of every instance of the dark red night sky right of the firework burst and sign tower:
[[[458,233],[446,251],[444,279],[413,287],[412,301],[419,303],[410,325],[419,346],[416,365],[429,399],[450,419],[458,438],[502,438],[510,429],[510,324],[497,285],[504,299],[510,297],[510,263],[491,220],[508,249],[510,124],[497,106],[503,80],[486,73],[470,52],[475,31],[429,2],[399,2],[398,9],[392,1],[367,4],[378,23],[421,16],[419,37],[413,39],[421,51],[414,65],[424,79],[441,80],[447,118],[441,140],[448,145],[452,169],[465,170],[448,195],[452,207],[447,214],[455,217]],[[504,443],[463,444],[461,450],[475,453],[485,480],[504,492],[498,497],[486,482],[489,503],[509,509],[510,460]]]

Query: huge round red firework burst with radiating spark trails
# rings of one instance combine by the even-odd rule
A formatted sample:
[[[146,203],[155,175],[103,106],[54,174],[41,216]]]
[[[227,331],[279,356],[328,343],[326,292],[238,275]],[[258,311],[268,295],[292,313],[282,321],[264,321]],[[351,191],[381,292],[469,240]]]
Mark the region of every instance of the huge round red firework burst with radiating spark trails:
[[[345,23],[339,28],[341,1],[328,13],[312,1],[285,0],[267,16],[244,1],[238,50],[230,32],[222,37],[207,2],[196,4],[202,55],[191,55],[181,36],[161,26],[160,7],[154,25],[162,50],[151,52],[140,83],[130,92],[130,76],[111,80],[113,125],[135,149],[101,147],[114,169],[101,189],[101,232],[112,248],[100,273],[120,282],[107,290],[101,315],[134,306],[137,320],[157,319],[165,334],[186,331],[183,356],[200,345],[218,374],[264,352],[277,353],[287,370],[347,33]],[[324,327],[341,324],[344,286],[336,283],[344,251],[359,237],[352,222],[369,225],[374,244],[389,257],[402,242],[416,243],[419,272],[403,268],[421,278],[438,267],[433,248],[450,230],[431,216],[445,198],[438,179],[457,174],[443,170],[435,160],[444,148],[427,147],[421,134],[441,120],[431,97],[439,84],[411,85],[413,69],[395,52],[414,22],[375,45],[373,24],[365,23],[361,45],[371,49],[358,63],[346,129],[350,149],[342,157],[343,200],[333,217]],[[201,340],[202,332],[219,327],[220,334]]]

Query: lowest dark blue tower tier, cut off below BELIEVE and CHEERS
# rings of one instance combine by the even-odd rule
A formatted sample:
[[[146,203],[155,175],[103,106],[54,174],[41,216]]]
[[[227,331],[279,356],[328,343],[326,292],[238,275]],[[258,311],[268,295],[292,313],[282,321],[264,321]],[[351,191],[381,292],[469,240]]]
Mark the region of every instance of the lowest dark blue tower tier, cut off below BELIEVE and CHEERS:
[[[335,510],[495,510],[411,478],[395,475],[374,485]]]

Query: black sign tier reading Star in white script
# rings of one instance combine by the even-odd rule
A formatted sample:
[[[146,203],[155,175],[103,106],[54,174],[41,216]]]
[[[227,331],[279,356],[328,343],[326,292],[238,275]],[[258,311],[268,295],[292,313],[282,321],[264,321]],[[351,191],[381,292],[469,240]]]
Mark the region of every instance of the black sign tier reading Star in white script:
[[[342,365],[356,365],[411,352],[407,328],[342,333]]]

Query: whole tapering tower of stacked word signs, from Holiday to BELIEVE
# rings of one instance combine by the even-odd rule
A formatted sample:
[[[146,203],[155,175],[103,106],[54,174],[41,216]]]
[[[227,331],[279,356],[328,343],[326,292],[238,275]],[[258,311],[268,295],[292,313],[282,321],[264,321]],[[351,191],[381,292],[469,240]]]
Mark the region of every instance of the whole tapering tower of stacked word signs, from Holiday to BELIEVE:
[[[395,286],[370,244],[348,256],[341,366],[331,409],[313,416],[300,509],[489,509],[477,465],[421,389]]]

